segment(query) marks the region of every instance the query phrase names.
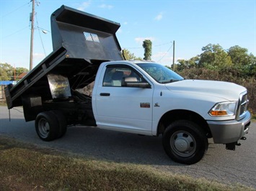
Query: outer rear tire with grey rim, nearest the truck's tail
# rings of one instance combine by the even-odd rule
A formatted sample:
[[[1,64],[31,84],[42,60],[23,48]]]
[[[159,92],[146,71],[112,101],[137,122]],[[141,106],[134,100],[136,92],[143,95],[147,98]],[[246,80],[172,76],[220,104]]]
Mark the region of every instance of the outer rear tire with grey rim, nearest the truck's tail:
[[[56,115],[50,111],[39,113],[35,118],[35,131],[43,141],[57,139],[59,124]]]

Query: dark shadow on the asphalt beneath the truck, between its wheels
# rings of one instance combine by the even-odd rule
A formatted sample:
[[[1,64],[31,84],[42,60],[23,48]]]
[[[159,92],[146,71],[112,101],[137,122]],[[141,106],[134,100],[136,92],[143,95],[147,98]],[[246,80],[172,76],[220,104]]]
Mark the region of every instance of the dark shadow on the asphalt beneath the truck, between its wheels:
[[[65,150],[85,157],[135,164],[182,165],[172,162],[162,147],[162,136],[140,136],[94,127],[71,126],[54,141]]]

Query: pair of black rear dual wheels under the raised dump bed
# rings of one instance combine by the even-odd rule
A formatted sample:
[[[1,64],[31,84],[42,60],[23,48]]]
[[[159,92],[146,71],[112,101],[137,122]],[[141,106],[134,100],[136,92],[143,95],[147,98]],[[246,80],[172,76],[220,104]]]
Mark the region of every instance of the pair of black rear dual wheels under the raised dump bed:
[[[66,134],[66,118],[61,111],[44,111],[35,119],[35,130],[43,141],[53,141]]]

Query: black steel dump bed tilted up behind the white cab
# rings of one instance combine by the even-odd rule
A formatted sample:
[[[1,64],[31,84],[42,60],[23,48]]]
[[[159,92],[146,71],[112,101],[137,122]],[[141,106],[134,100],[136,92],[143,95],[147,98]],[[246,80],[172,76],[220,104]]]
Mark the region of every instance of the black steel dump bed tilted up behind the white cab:
[[[40,106],[38,112],[43,111],[42,103],[53,100],[48,75],[67,78],[72,91],[92,83],[102,62],[123,60],[115,36],[120,24],[67,6],[54,11],[50,22],[53,52],[17,85],[6,87],[8,108]]]

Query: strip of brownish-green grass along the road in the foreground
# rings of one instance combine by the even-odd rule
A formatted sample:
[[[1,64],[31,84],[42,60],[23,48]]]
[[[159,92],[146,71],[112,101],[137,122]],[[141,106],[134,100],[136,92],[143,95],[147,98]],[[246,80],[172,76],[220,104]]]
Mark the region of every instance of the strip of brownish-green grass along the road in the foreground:
[[[252,190],[147,165],[84,159],[3,136],[0,177],[0,190]]]

